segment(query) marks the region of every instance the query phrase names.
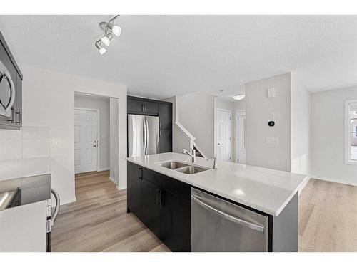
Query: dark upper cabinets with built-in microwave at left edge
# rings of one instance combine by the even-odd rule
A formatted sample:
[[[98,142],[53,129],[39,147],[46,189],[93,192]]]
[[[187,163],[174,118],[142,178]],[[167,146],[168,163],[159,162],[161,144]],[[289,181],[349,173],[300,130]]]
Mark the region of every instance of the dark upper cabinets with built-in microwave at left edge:
[[[0,129],[22,126],[22,73],[0,32]]]

